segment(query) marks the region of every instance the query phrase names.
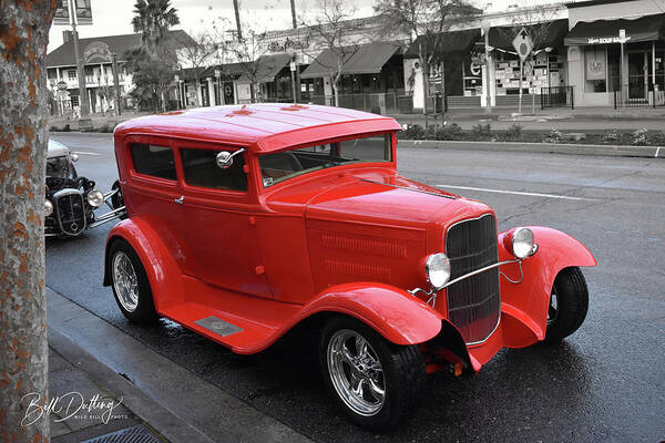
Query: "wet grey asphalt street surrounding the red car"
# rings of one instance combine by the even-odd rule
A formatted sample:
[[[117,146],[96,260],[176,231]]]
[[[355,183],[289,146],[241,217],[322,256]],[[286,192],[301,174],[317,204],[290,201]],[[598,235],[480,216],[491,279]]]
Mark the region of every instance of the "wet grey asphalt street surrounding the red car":
[[[110,188],[117,174],[110,134],[53,138],[80,153],[80,175]],[[167,320],[130,324],[101,285],[112,224],[48,241],[47,285],[319,442],[665,439],[665,161],[441,148],[406,148],[398,156],[402,175],[491,205],[500,230],[561,229],[587,245],[598,266],[584,269],[590,310],[575,334],[555,347],[503,350],[473,377],[430,377],[421,409],[393,433],[375,435],[341,418],[317,367],[288,340],[242,357]]]

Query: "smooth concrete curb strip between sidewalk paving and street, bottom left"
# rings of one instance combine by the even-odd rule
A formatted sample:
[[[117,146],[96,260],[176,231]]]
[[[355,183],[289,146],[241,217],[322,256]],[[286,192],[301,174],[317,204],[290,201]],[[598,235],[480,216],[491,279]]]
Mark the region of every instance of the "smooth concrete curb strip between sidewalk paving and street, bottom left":
[[[85,364],[90,362],[100,375],[84,364],[79,368],[90,372],[93,379],[101,377],[98,379],[104,380],[101,384],[123,393],[125,405],[173,443],[311,442],[48,286],[47,310],[49,330],[59,332],[90,354]],[[68,360],[78,359],[70,354],[75,351],[58,349],[58,352]],[[114,374],[110,380],[119,384],[112,385],[103,374]],[[117,380],[120,374],[125,374],[126,380]],[[183,436],[184,432],[192,439]]]

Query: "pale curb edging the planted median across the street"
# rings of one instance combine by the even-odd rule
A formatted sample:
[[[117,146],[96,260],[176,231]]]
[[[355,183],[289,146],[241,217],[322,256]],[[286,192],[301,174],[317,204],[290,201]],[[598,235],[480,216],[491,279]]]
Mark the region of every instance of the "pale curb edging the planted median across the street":
[[[398,147],[457,151],[501,151],[519,153],[595,155],[608,157],[665,158],[663,146],[585,145],[573,143],[466,142],[438,140],[399,140]]]

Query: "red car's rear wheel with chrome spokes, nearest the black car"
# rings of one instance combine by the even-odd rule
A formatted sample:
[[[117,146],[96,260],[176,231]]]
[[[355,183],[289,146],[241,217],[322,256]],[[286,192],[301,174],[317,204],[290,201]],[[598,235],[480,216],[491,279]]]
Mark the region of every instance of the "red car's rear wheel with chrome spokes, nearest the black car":
[[[136,251],[116,239],[109,249],[111,287],[117,307],[133,323],[146,324],[157,319],[147,275]]]

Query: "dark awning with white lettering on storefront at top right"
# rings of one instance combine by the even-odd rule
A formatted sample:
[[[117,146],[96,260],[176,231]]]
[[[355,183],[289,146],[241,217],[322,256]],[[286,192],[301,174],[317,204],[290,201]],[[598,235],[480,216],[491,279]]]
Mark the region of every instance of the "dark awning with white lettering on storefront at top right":
[[[581,21],[565,37],[565,44],[607,44],[621,43],[618,31],[626,31],[626,43],[661,40],[665,38],[665,14],[645,16],[627,20]]]

